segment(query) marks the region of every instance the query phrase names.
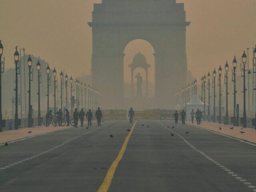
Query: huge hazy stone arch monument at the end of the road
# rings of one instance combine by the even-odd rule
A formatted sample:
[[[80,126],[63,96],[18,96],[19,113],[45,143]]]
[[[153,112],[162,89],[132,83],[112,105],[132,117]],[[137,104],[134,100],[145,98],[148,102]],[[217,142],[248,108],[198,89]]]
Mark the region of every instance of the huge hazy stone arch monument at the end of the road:
[[[189,24],[184,4],[176,0],[102,0],[94,4],[92,22],[88,22],[92,28],[92,85],[103,95],[102,107],[124,108],[124,49],[132,40],[142,39],[154,48],[154,108],[173,108],[174,94],[186,85]],[[132,74],[132,86],[134,78]]]

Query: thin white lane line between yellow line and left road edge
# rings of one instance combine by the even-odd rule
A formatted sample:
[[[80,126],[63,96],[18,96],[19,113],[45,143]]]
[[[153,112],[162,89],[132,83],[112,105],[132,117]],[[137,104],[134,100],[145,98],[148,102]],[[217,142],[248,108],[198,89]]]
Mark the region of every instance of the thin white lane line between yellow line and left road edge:
[[[116,121],[114,121],[114,122],[116,122]],[[114,123],[114,122],[113,122],[113,123]],[[89,131],[89,132],[86,132],[86,133],[84,133],[84,134],[82,134],[82,135],[78,135],[78,136],[76,136],[76,137],[74,137],[74,138],[72,138],[72,139],[69,139],[69,140],[63,142],[63,143],[60,144],[60,145],[55,146],[54,148],[51,148],[51,149],[49,149],[49,150],[46,150],[46,151],[41,152],[41,153],[39,153],[39,154],[36,154],[36,155],[34,155],[34,156],[40,156],[40,155],[42,155],[42,154],[45,154],[45,153],[47,153],[47,152],[50,152],[51,150],[54,150],[54,149],[56,149],[56,148],[59,148],[59,147],[61,147],[61,146],[65,145],[65,144],[67,144],[68,142],[70,142],[70,141],[72,141],[72,140],[75,140],[75,139],[77,139],[77,138],[79,138],[79,137],[81,137],[81,136],[84,136],[84,135],[86,135],[86,134],[88,134],[88,133],[91,133],[91,132],[93,132],[93,131],[95,131],[95,130],[98,130],[98,129],[100,129],[100,128],[103,128],[103,127],[105,127],[105,126],[108,126],[109,124],[110,124],[110,123],[108,123],[108,124],[106,124],[106,125],[104,125],[104,126],[102,126],[102,127],[98,127],[98,128],[96,128],[96,129],[94,129],[94,130],[91,130],[91,131]],[[5,167],[0,168],[0,170],[4,170],[4,169],[6,169],[6,168],[9,168],[10,166],[13,166],[13,165],[16,165],[16,164],[25,162],[25,161],[27,161],[27,160],[30,160],[31,158],[34,158],[34,156],[31,156],[31,157],[29,157],[29,158],[20,160],[20,161],[18,161],[18,162],[12,163],[12,164],[9,164],[8,166],[5,166]]]

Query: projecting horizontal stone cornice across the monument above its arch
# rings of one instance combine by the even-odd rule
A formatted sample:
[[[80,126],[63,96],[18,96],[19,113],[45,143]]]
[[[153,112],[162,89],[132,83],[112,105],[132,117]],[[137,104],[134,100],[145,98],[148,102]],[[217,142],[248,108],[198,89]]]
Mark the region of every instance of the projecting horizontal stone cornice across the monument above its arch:
[[[190,22],[88,22],[93,26],[189,26]]]

